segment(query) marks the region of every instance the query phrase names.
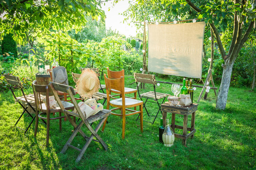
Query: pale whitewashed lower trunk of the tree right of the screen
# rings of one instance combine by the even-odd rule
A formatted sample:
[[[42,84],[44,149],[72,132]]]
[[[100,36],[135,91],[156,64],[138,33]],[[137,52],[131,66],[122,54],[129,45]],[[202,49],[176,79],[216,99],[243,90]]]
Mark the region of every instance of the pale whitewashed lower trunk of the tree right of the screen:
[[[219,110],[224,110],[227,102],[228,88],[230,86],[230,79],[232,74],[234,62],[230,62],[229,59],[226,60],[223,66],[222,79],[220,83],[220,88],[218,92],[216,108]]]

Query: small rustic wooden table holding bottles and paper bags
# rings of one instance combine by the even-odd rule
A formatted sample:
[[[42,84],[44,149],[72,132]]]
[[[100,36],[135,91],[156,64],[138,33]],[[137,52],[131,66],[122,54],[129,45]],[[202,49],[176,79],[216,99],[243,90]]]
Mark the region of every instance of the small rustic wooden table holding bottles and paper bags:
[[[168,103],[161,104],[161,109],[163,112],[163,124],[164,127],[166,126],[166,115],[167,112],[171,113],[171,128],[174,132],[174,135],[176,138],[182,139],[183,145],[186,146],[187,139],[189,137],[193,138],[194,133],[196,132],[195,129],[195,114],[197,111],[198,104],[193,103],[189,106],[170,106]],[[183,126],[179,126],[175,124],[175,116],[176,114],[183,115]],[[191,117],[191,127],[187,127],[187,117],[188,115],[192,115]],[[183,129],[183,134],[180,135],[178,133],[175,133],[175,128]],[[190,133],[187,134],[187,130],[190,131]]]

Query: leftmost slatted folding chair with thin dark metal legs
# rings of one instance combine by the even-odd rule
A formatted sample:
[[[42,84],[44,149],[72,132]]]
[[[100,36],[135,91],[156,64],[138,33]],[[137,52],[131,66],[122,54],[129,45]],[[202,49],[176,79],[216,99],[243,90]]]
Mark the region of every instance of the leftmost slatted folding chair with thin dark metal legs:
[[[13,76],[13,75],[8,75],[8,74],[4,74],[4,77],[7,80],[7,83],[9,84],[9,89],[11,90],[13,97],[15,99],[16,102],[18,102],[21,107],[23,108],[23,112],[20,115],[19,119],[17,120],[17,122],[15,123],[14,126],[17,125],[17,123],[20,121],[20,118],[23,116],[23,114],[26,112],[29,114],[29,116],[32,118],[31,122],[29,123],[29,126],[26,129],[22,129],[21,127],[18,127],[19,129],[22,129],[25,131],[25,133],[28,131],[29,127],[31,126],[31,124],[33,123],[33,121],[36,118],[36,115],[33,117],[31,115],[31,113],[28,111],[28,109],[30,108],[34,113],[36,113],[35,108],[32,105],[35,105],[35,98],[34,95],[25,95],[24,91],[23,91],[23,86],[22,83],[19,79],[19,77],[17,76]],[[16,97],[13,91],[13,87],[16,87],[18,89],[20,89],[21,93],[23,96],[21,97]],[[43,95],[41,95],[41,97],[43,98]],[[44,120],[42,120],[44,124],[46,124],[46,122]]]

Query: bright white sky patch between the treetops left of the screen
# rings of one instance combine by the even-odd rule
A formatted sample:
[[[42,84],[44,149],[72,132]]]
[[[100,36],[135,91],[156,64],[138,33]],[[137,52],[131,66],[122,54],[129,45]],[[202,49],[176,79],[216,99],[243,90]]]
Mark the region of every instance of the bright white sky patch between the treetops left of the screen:
[[[102,5],[102,9],[106,14],[106,29],[111,29],[119,31],[121,34],[124,34],[126,37],[136,36],[136,27],[134,24],[128,25],[128,23],[123,23],[124,16],[118,15],[118,13],[123,13],[128,8],[128,0],[121,0],[113,6],[113,1],[105,2]],[[110,10],[109,10],[110,8]]]

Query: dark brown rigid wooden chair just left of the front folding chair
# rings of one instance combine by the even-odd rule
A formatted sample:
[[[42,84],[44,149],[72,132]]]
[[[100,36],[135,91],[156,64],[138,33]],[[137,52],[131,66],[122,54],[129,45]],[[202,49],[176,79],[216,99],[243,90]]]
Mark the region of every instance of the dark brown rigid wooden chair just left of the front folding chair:
[[[36,137],[37,134],[37,128],[38,128],[38,118],[46,120],[47,122],[47,128],[46,128],[46,145],[49,144],[49,133],[50,133],[50,120],[56,120],[59,119],[59,130],[61,130],[61,119],[65,118],[65,116],[61,116],[61,109],[59,106],[56,107],[56,109],[50,109],[49,104],[49,85],[38,85],[37,81],[33,81],[33,92],[35,97],[35,105],[36,105],[36,125],[35,125],[35,132],[34,137]],[[41,97],[40,93],[45,93],[46,103],[40,102],[43,98]],[[65,106],[66,110],[73,110],[74,105],[67,101],[61,101],[61,104]],[[52,117],[50,118],[50,113],[57,113],[59,112],[59,117]],[[46,117],[43,117],[42,114],[46,114]]]

